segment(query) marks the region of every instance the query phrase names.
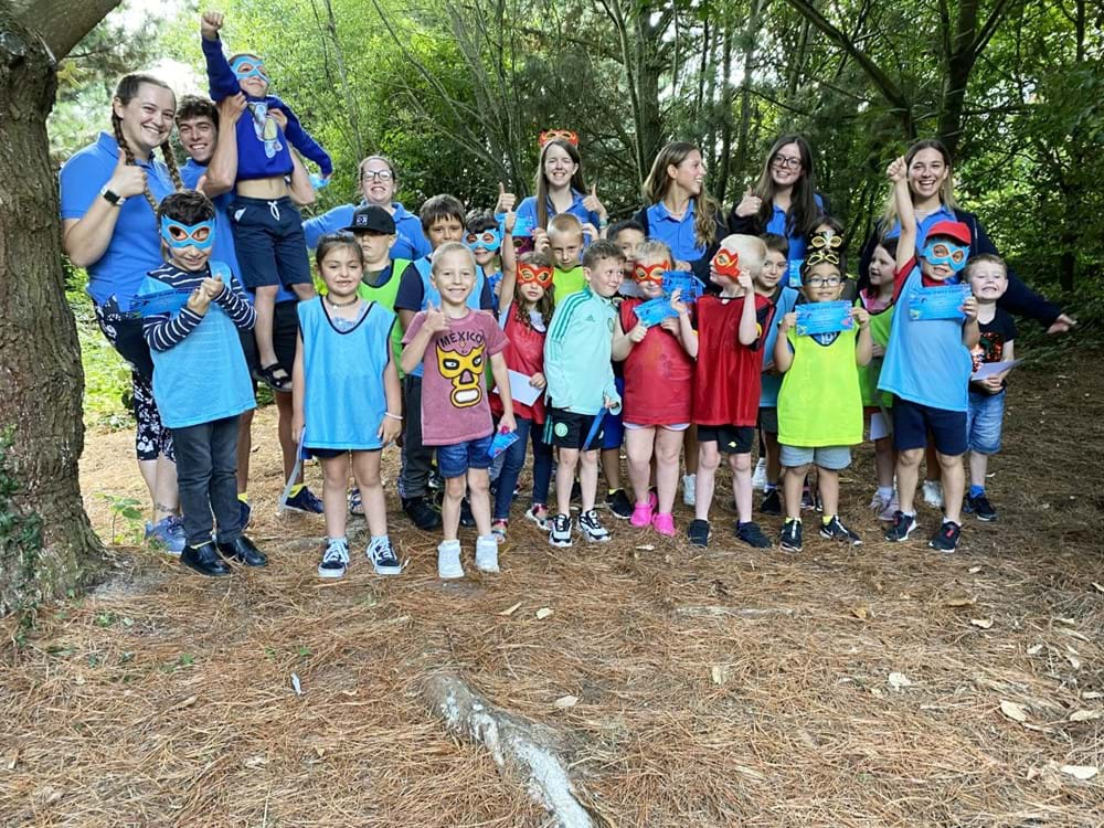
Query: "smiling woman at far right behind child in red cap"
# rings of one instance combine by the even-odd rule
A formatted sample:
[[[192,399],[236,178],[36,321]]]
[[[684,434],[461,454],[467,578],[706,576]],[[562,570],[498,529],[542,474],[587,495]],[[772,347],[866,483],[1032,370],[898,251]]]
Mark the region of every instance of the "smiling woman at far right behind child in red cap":
[[[942,141],[932,138],[916,141],[909,148],[904,160],[909,193],[916,213],[917,248],[923,248],[927,232],[935,224],[957,221],[970,230],[970,257],[983,253],[1000,255],[977,216],[959,209],[955,201],[954,166],[951,153]],[[879,240],[896,238],[900,235],[901,222],[891,194],[881,221],[862,246],[859,262],[860,290],[869,285],[870,259]],[[1062,312],[1061,308],[1025,285],[1011,268],[1008,270],[1008,290],[1000,297],[998,305],[1010,314],[1037,319],[1047,327],[1048,333],[1064,333],[1076,325],[1072,318]]]

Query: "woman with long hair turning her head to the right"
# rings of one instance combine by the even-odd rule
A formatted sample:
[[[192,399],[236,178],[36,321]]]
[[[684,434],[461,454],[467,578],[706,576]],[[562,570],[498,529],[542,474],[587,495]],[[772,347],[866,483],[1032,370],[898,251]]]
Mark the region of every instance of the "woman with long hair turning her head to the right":
[[[659,150],[644,182],[650,206],[633,220],[648,238],[671,248],[676,266],[691,269],[709,285],[709,262],[725,236],[716,202],[704,189],[705,164],[701,150],[687,141],[672,141]]]

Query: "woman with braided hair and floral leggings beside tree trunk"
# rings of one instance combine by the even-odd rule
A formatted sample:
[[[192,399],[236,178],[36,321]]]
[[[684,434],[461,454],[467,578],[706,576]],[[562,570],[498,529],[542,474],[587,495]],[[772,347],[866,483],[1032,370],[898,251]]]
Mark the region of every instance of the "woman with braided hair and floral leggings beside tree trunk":
[[[176,108],[164,82],[125,75],[112,102],[114,135],[100,132],[70,158],[60,185],[62,245],[76,267],[87,269],[96,320],[132,372],[138,466],[153,500],[146,537],[180,554],[184,535],[172,439],[153,402],[153,362],[142,320],[126,312],[146,274],[162,264],[157,205],[181,189],[169,146]],[[163,162],[155,158],[158,149]]]

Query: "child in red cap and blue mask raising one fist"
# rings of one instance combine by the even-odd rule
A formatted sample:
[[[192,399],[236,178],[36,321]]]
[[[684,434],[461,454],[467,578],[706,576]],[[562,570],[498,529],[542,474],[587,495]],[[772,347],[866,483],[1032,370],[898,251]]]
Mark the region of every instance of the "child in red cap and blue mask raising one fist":
[[[920,461],[931,432],[943,475],[944,514],[930,545],[941,552],[954,552],[962,531],[966,487],[963,456],[967,447],[970,349],[980,338],[977,300],[973,296],[966,298],[962,316],[953,319],[919,318],[919,314],[911,311],[925,298],[926,289],[960,282],[969,256],[970,232],[962,222],[938,222],[928,231],[924,248],[916,251],[916,222],[904,159],[891,163],[887,174],[893,181],[902,231],[894,276],[896,310],[878,383],[879,390],[894,395],[893,447],[898,452],[900,510],[893,516],[893,526],[885,538],[904,541],[916,528],[913,500]]]

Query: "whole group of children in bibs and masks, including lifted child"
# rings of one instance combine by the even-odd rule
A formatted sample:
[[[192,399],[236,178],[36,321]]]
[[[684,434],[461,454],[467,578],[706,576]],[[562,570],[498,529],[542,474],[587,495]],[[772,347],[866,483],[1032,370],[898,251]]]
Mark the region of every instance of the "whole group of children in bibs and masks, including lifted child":
[[[684,500],[693,507],[690,542],[709,543],[723,455],[732,470],[735,538],[772,546],[753,519],[757,442],[766,478],[760,509],[785,512],[779,546],[803,549],[803,492],[814,469],[809,500],[822,512],[819,534],[858,544],[839,514],[839,475],[867,427],[878,458],[872,506],[890,523],[887,539],[904,541],[916,528],[917,470],[930,442],[945,491],[944,519],[931,545],[955,549],[964,496],[978,518],[996,517],[984,491],[985,458],[999,448],[1007,372],[970,378],[976,363],[1012,355],[1015,329],[996,308],[1005,267],[994,256],[967,262],[969,229],[958,222],[936,224],[923,250],[915,248],[903,159],[888,170],[901,234],[875,250],[869,287],[858,296],[846,274],[841,229],[828,217],[807,240],[799,286],[789,284],[787,240],[771,234],[721,240],[703,285],[640,224],[606,226],[604,209],[595,222],[571,212],[546,216],[546,227],[524,221],[516,237],[522,211],[513,212],[512,203],[500,216],[468,213],[450,195],[423,205],[432,250],[413,261],[392,259],[396,225],[385,209],[357,209],[348,226],[317,240],[316,294],[298,264],[306,255],[301,227],[287,222],[298,213],[273,183],[284,173],[261,157],[278,156],[285,136],[327,174],[328,157],[267,95],[258,59],[222,57],[221,24],[221,15],[204,15],[212,88],[217,81],[224,95],[245,93],[250,112],[236,130],[238,195],[230,208],[242,273],[211,261],[215,209],[184,191],[160,203],[166,265],[142,289],[188,294],[182,307],[148,314],[145,333],[155,353],[155,396],[177,440],[189,565],[224,574],[216,553],[248,565],[265,562],[231,513],[231,435],[236,416],[254,404],[237,330],[253,327],[259,330],[261,375],[278,390],[290,384],[294,437],[321,465],[322,577],[340,577],[350,564],[350,502],[367,518],[367,556],[375,572],[401,572],[380,477],[383,449],[400,439],[403,508],[418,528],[439,528],[443,578],[464,575],[461,522],[478,532],[476,567],[498,572],[528,456],[532,502],[524,517],[561,548],[576,535],[609,540],[596,510],[599,466],[614,514],[677,534],[683,453],[697,460],[697,470],[682,477]],[[233,91],[226,72],[237,83]],[[278,124],[272,109],[284,110]],[[267,194],[276,198],[241,194],[243,182],[259,192],[257,180],[264,182],[259,191],[272,184]],[[601,208],[593,190],[590,199]],[[930,318],[916,310],[930,296],[925,290],[962,279],[973,295],[957,315]],[[272,355],[277,288],[300,299],[290,376],[280,375]],[[853,304],[839,325],[803,330],[803,306],[843,297]],[[657,307],[660,318],[652,315]],[[619,486],[623,444],[631,501]],[[434,461],[443,480],[439,512],[429,493]],[[347,501],[350,466],[355,488]],[[571,512],[576,492],[577,521]],[[212,512],[217,544],[205,540]]]

